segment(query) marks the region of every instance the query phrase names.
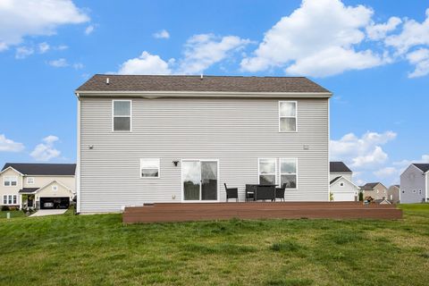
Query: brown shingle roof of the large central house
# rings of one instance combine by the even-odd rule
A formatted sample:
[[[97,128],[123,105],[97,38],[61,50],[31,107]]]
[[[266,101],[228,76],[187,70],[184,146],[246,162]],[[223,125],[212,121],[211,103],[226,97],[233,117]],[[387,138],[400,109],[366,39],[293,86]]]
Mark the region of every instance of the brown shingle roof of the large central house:
[[[106,84],[106,79],[109,84]],[[76,90],[82,91],[213,91],[331,93],[304,77],[242,77],[192,75],[96,74]]]

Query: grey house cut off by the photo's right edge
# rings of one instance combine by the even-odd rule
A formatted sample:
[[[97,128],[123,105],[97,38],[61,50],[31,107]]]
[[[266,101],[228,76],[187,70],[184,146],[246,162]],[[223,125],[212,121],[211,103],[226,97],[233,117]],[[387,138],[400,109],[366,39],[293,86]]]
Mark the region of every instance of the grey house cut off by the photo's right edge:
[[[400,202],[404,204],[429,201],[429,164],[410,164],[400,174]]]

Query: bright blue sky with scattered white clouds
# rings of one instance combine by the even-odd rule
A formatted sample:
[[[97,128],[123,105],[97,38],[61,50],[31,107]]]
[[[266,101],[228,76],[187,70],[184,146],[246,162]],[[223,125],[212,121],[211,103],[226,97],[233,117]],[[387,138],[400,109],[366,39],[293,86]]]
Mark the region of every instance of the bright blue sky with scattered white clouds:
[[[95,73],[307,76],[354,181],[429,163],[429,1],[0,1],[0,164],[76,160]]]

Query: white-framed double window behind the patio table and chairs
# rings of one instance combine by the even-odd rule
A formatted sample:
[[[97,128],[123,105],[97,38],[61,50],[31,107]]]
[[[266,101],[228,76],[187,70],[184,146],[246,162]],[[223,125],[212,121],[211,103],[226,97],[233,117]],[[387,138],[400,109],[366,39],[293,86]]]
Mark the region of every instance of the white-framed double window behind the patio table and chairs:
[[[261,185],[286,184],[286,189],[297,189],[298,159],[261,158],[258,160],[258,180]],[[277,165],[280,168],[277,168]],[[279,169],[277,171],[277,169]]]

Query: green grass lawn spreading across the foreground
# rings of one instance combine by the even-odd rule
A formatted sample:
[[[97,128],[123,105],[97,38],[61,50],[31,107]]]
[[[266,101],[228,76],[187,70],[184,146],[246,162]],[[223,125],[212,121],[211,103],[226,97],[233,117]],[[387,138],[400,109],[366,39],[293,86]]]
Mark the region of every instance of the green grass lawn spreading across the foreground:
[[[399,221],[2,218],[0,284],[427,285],[429,205],[401,207]]]

